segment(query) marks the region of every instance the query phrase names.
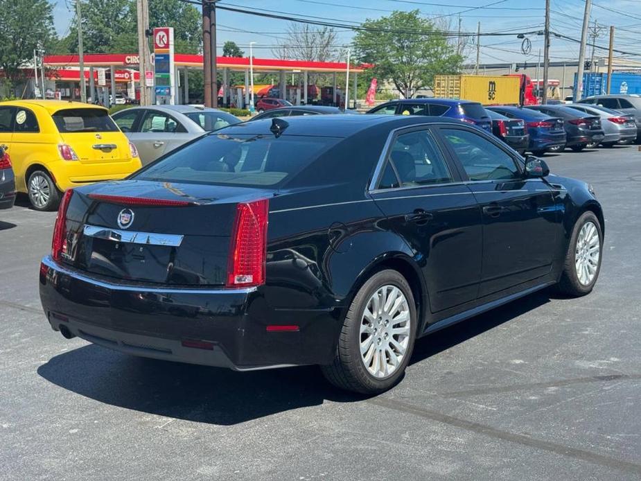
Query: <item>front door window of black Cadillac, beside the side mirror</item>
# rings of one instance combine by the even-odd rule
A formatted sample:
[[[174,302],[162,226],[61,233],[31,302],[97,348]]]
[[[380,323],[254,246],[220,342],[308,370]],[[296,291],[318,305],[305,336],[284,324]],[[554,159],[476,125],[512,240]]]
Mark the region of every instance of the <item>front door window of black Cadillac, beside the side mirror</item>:
[[[475,132],[442,130],[470,180],[511,180],[520,177],[507,152]]]

